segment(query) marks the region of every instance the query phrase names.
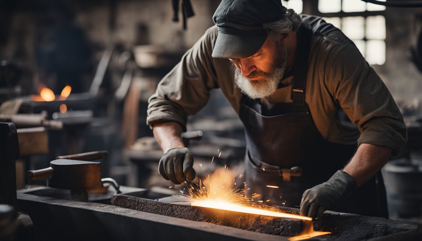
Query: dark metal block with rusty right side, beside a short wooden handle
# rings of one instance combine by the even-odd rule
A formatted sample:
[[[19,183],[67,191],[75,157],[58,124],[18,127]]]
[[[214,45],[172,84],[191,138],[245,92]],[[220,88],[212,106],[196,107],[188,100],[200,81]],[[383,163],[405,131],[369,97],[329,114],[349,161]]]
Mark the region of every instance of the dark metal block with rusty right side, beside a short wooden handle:
[[[54,175],[48,186],[60,189],[85,189],[86,192],[105,192],[101,182],[101,162],[58,159],[50,162]]]

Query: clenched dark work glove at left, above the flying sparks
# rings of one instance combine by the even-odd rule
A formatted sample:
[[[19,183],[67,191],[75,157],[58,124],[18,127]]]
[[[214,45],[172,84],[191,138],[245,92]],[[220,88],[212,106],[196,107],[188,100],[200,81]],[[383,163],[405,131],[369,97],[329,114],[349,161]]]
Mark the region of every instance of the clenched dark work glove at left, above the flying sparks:
[[[196,176],[192,153],[186,147],[168,150],[158,163],[158,172],[174,184],[181,184],[185,180],[192,181]]]

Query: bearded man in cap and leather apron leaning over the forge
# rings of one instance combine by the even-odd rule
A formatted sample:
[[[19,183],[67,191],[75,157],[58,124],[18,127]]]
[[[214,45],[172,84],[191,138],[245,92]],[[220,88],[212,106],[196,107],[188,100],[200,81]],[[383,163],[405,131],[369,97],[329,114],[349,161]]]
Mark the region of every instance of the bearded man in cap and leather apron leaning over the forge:
[[[149,99],[160,174],[195,178],[181,132],[221,88],[245,126],[249,191],[308,217],[388,217],[380,169],[406,143],[406,126],[353,42],[278,0],[222,0],[213,20]]]

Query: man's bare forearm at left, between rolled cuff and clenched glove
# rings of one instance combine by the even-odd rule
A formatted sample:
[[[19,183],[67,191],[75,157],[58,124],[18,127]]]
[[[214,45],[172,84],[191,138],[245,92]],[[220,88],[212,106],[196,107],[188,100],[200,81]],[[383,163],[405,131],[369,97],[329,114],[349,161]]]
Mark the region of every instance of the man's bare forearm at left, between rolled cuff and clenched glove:
[[[164,153],[172,148],[185,147],[181,138],[182,127],[177,122],[155,124],[152,131]]]

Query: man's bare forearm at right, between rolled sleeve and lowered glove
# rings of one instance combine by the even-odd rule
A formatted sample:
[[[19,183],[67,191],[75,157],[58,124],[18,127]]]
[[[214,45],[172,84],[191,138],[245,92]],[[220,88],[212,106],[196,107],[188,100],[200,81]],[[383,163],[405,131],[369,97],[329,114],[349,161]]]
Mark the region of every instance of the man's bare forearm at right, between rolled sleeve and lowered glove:
[[[360,144],[343,171],[353,176],[360,187],[388,162],[390,155],[391,149],[388,147]]]

